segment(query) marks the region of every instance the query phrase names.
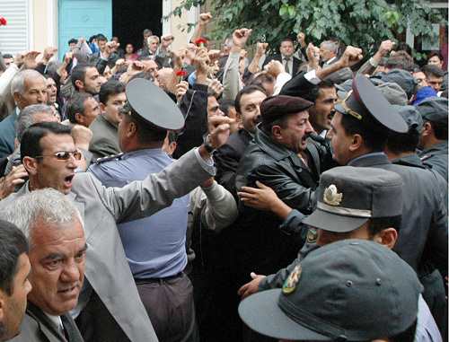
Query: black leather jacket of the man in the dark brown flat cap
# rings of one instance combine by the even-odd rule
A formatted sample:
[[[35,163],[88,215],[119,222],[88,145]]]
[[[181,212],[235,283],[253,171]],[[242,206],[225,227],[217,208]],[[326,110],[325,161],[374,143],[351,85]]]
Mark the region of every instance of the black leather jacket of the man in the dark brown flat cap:
[[[277,192],[287,205],[305,213],[313,208],[313,190],[317,188],[321,161],[330,153],[309,140],[310,169],[292,151],[277,144],[258,127],[254,140],[243,154],[236,172],[235,185],[255,186],[260,180]],[[304,234],[292,236],[278,229],[282,220],[271,212],[240,206],[240,216],[219,234],[221,263],[229,272],[269,274],[295,259],[304,243]],[[217,260],[220,262],[220,260]]]

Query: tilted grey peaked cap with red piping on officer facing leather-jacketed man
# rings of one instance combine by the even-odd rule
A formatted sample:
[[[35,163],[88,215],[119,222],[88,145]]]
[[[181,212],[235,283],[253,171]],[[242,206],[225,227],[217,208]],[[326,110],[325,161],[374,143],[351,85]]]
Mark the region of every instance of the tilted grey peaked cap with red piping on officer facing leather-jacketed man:
[[[356,76],[352,92],[348,94],[346,100],[337,103],[334,108],[341,114],[362,120],[367,125],[371,125],[373,120],[370,118],[374,118],[382,127],[394,132],[406,133],[409,130],[401,115],[364,75]]]

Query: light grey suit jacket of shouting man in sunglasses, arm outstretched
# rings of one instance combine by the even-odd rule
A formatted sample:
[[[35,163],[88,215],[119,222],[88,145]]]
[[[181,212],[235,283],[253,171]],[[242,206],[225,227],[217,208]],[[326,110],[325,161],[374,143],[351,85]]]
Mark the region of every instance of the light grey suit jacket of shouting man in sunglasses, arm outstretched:
[[[158,174],[122,189],[104,188],[91,173],[75,174],[72,191],[67,196],[74,199],[84,217],[88,245],[86,279],[133,342],[157,341],[157,338],[137,292],[117,224],[153,215],[210,177],[193,151]],[[21,191],[2,200],[0,208],[25,194],[25,189],[28,183]]]

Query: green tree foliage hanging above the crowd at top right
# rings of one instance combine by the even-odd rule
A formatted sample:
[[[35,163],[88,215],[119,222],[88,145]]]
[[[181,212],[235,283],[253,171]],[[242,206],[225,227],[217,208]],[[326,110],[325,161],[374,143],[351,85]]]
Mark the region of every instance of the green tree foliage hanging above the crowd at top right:
[[[170,15],[204,4],[206,0],[184,0]],[[225,39],[239,28],[252,29],[249,43],[269,42],[276,50],[284,38],[296,42],[303,31],[306,42],[320,43],[328,35],[372,54],[385,39],[397,41],[410,23],[411,33],[434,37],[432,22],[445,19],[421,0],[211,0],[216,28],[212,36]],[[165,17],[164,19],[167,19]],[[189,31],[192,29],[189,24]],[[366,55],[366,52],[365,52]]]

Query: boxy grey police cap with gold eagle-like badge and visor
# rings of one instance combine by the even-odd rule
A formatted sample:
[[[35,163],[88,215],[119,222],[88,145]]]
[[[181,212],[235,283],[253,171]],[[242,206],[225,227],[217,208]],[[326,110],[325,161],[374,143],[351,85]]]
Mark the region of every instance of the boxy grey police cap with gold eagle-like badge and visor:
[[[317,209],[304,224],[330,232],[352,232],[370,218],[402,214],[403,183],[392,172],[342,166],[321,174]]]

